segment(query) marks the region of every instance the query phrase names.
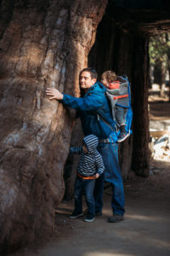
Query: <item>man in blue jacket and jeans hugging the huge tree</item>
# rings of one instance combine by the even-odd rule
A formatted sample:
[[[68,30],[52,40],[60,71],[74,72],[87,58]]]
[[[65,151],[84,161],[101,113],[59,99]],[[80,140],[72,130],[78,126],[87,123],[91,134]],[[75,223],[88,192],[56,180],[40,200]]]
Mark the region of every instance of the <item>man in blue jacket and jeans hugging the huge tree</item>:
[[[97,73],[91,68],[84,68],[79,76],[84,96],[77,98],[48,88],[46,93],[50,100],[56,99],[70,108],[77,109],[82,121],[85,136],[94,134],[99,137],[99,153],[105,164],[105,173],[96,180],[94,188],[95,215],[102,215],[104,182],[112,183],[111,208],[113,215],[108,218],[111,223],[120,222],[124,215],[124,189],[122,174],[118,163],[118,143],[116,125],[105,97],[105,86],[97,82]]]

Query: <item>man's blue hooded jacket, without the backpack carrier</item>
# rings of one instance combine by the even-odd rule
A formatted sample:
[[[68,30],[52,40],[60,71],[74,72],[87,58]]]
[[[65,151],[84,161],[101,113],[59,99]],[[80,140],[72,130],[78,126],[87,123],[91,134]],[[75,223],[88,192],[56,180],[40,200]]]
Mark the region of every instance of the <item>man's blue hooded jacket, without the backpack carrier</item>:
[[[111,142],[116,143],[116,124],[111,117],[105,91],[105,86],[97,82],[88,89],[85,96],[77,98],[64,94],[62,102],[77,109],[85,136],[94,134],[99,139],[111,138]]]

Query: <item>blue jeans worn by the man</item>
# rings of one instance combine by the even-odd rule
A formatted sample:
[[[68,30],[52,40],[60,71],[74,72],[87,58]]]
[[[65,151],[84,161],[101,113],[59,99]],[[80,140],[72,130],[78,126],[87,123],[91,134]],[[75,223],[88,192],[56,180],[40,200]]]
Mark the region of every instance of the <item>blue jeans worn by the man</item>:
[[[124,210],[124,189],[122,174],[118,162],[118,143],[100,143],[98,147],[102,155],[105,172],[96,179],[94,187],[95,211],[101,212],[103,207],[104,182],[112,184],[111,208],[114,214],[123,215]]]

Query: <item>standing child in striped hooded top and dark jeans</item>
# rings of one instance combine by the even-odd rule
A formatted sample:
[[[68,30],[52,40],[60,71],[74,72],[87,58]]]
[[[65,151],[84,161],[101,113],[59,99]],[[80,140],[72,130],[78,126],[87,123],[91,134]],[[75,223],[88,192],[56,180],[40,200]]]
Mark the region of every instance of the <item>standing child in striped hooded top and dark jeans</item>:
[[[75,209],[70,218],[78,218],[82,212],[82,191],[84,190],[88,214],[84,221],[92,222],[95,218],[94,184],[95,179],[104,172],[104,163],[97,147],[98,137],[93,134],[83,138],[82,147],[70,148],[71,153],[80,154],[75,182]]]

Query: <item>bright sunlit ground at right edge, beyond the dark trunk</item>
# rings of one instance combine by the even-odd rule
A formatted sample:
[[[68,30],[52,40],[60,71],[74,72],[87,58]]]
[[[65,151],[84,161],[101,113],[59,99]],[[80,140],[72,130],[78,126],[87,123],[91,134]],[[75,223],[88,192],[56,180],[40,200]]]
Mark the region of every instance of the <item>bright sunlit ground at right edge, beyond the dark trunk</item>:
[[[160,96],[160,87],[153,84],[149,90],[150,150],[157,161],[170,162],[170,102],[169,88]]]

